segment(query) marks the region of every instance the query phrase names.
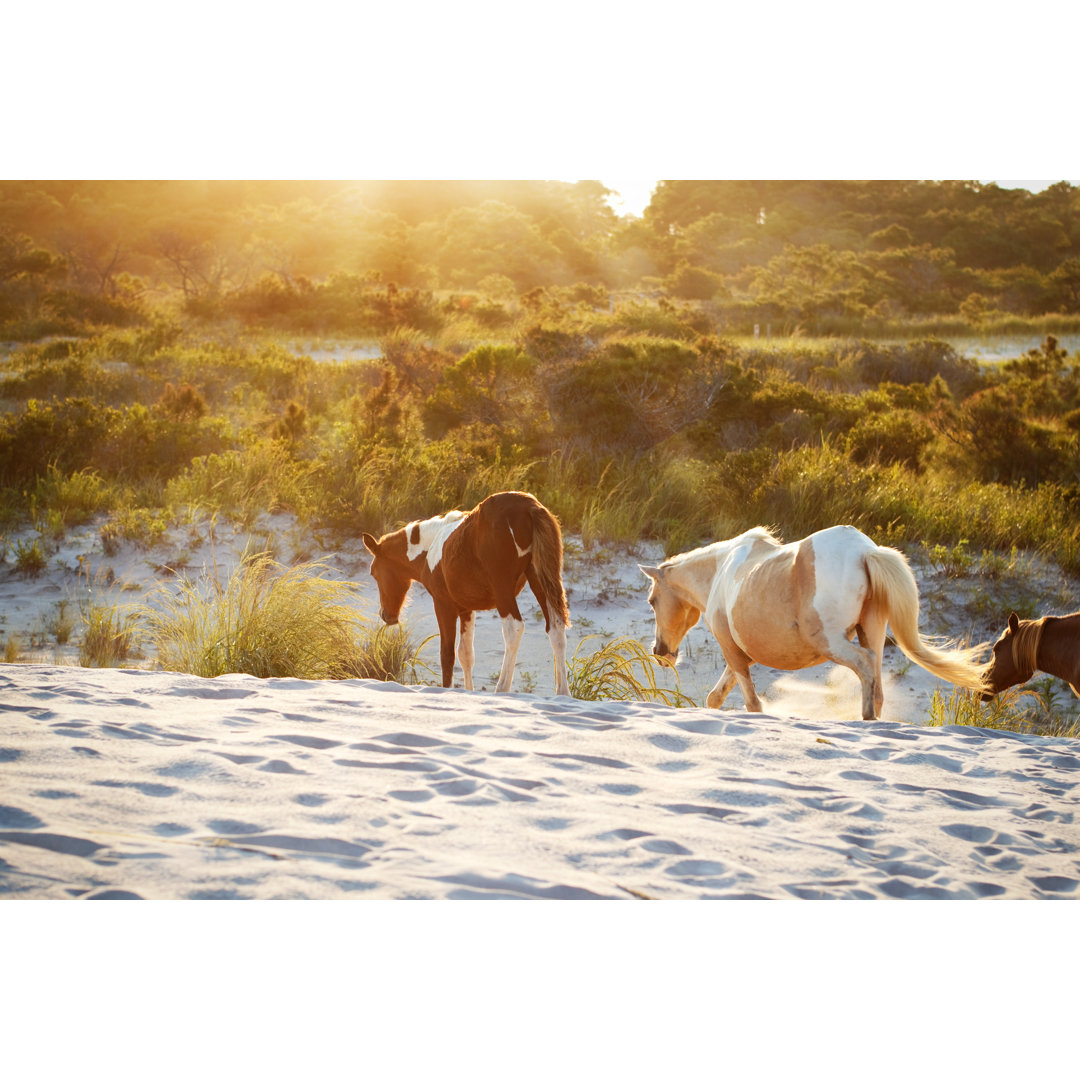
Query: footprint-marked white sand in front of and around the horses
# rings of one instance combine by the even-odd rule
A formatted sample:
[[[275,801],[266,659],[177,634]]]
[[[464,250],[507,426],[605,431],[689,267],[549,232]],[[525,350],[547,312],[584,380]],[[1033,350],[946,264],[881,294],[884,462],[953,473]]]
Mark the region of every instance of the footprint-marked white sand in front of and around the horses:
[[[222,570],[242,539],[218,536]],[[658,551],[569,549],[571,650],[588,634],[649,640],[636,563]],[[78,581],[67,557],[35,582],[0,569],[9,631]],[[122,553],[116,588],[137,578],[141,599],[160,558]],[[327,572],[362,582],[374,606],[359,552],[334,553]],[[423,636],[430,599],[414,596]],[[1080,895],[1080,742],[921,727],[940,684],[893,649],[870,725],[858,679],[835,665],[760,672],[765,715],[740,712],[738,691],[723,713],[558,699],[523,597],[515,687],[532,692],[87,670],[70,666],[72,646],[0,665],[2,894]],[[688,643],[683,688],[701,700],[718,650],[700,629]],[[494,613],[476,644],[490,687]]]

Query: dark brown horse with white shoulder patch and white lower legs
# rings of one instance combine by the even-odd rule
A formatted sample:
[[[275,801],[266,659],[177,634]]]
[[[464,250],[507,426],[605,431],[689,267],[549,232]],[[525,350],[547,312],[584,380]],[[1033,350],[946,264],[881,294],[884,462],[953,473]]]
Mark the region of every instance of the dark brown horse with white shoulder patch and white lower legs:
[[[458,659],[467,690],[473,688],[473,629],[476,611],[498,610],[505,650],[497,691],[514,678],[517,649],[525,632],[517,594],[529,583],[543,611],[555,654],[555,692],[569,696],[566,674],[566,627],[570,615],[563,590],[563,535],[546,507],[525,491],[488,496],[469,513],[450,510],[440,517],[410,522],[376,540],[364,534],[375,556],[372,577],[379,585],[379,613],[397,622],[405,594],[419,581],[435,602],[443,686],[454,679],[454,644],[458,620]]]

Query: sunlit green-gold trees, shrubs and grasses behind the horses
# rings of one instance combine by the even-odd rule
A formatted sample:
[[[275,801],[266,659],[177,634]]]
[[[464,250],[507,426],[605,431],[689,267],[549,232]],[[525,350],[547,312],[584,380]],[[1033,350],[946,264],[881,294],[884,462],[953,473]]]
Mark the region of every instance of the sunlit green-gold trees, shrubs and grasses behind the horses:
[[[1042,343],[944,340],[1007,332]],[[2,181],[5,557],[279,511],[318,546],[525,487],[586,546],[842,522],[944,575],[1080,572],[1078,332],[1065,184],[661,181],[620,219],[588,181]],[[238,637],[289,585],[343,603],[289,573],[175,590],[159,647],[409,670],[340,611],[323,666]]]

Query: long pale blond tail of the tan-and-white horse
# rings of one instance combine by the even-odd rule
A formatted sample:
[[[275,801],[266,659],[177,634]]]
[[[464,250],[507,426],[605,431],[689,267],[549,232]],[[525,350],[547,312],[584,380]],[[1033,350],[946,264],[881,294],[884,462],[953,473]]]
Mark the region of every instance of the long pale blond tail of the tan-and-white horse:
[[[866,573],[870,603],[885,612],[896,644],[909,660],[967,690],[986,689],[986,667],[981,660],[985,643],[961,646],[919,633],[919,588],[903,554],[894,548],[876,548],[866,554]]]

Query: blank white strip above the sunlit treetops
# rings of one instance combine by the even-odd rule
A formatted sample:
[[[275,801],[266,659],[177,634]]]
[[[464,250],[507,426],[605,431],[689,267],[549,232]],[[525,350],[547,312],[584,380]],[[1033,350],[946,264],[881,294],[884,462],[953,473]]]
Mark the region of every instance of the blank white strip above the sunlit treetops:
[[[62,6],[5,14],[5,82],[32,93],[5,110],[0,178],[576,176],[627,212],[651,181],[608,177],[1080,183],[1053,54],[1080,8],[1049,0]]]

